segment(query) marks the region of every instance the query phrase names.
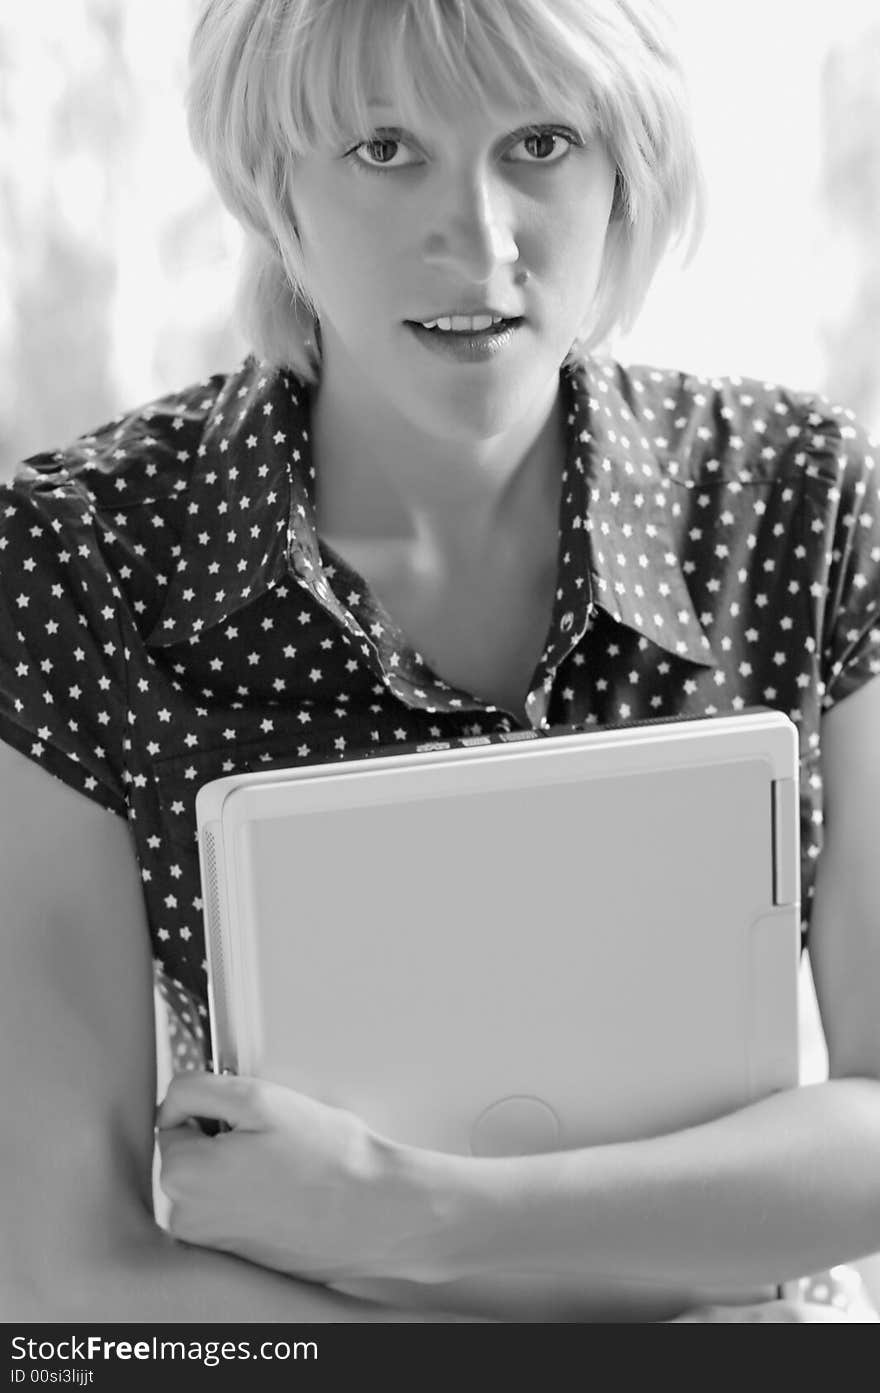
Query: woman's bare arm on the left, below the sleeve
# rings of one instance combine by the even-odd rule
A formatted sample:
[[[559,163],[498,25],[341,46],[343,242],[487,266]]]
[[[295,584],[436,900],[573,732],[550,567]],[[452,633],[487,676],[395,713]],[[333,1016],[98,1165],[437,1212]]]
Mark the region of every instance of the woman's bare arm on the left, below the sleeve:
[[[3,742],[0,788],[0,1319],[447,1319],[156,1226],[152,961],[128,827]]]

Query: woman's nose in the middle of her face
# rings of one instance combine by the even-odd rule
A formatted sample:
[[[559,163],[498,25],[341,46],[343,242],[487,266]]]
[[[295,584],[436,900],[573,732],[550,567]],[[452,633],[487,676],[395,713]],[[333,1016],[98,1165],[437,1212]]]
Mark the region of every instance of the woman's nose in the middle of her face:
[[[500,266],[519,258],[510,203],[487,180],[450,194],[434,215],[425,244],[425,262],[450,270],[462,281],[490,280]]]

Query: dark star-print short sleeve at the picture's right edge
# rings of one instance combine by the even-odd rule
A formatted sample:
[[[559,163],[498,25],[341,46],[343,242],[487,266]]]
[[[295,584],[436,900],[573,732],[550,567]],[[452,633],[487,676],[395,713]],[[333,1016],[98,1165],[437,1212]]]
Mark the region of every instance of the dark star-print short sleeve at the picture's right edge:
[[[813,426],[837,483],[823,624],[826,708],[880,677],[880,446],[847,414]]]

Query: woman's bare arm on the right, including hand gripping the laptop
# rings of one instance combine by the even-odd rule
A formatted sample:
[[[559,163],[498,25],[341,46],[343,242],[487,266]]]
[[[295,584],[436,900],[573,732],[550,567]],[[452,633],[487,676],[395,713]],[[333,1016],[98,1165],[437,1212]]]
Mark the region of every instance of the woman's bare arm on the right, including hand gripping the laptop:
[[[267,1265],[297,1272],[320,1270],[322,1262],[344,1270],[348,1258],[352,1277],[384,1279],[388,1295],[395,1280],[511,1272],[568,1275],[592,1287],[748,1289],[880,1248],[880,683],[826,719],[824,765],[830,827],[813,951],[828,1082],[666,1137],[551,1155],[471,1159],[373,1138],[369,1170],[373,1194],[383,1197],[382,1224],[372,1233],[375,1206],[365,1206],[366,1237],[358,1185],[344,1163],[317,1166],[319,1178],[338,1172],[330,1205],[302,1180],[315,1170],[316,1138],[333,1119],[319,1105],[309,1113],[298,1095],[281,1105],[260,1096],[259,1116],[246,1119],[233,1142],[235,1166],[226,1165],[227,1144],[209,1159],[198,1139],[175,1138],[182,1231],[237,1252],[258,1244]],[[220,1100],[217,1114],[241,1124],[231,1099],[223,1112],[227,1084],[181,1080],[170,1120]],[[272,1216],[269,1229],[259,1213],[239,1211],[245,1231],[230,1229],[242,1172]]]

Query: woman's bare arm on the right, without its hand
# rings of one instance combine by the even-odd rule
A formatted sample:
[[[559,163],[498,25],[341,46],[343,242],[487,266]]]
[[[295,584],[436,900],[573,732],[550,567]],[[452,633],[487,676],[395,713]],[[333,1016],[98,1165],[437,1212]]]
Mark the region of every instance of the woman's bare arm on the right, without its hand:
[[[880,681],[824,717],[812,964],[830,1080],[668,1137],[398,1163],[448,1197],[434,1266],[783,1282],[880,1250]],[[450,1211],[447,1209],[447,1213]]]

